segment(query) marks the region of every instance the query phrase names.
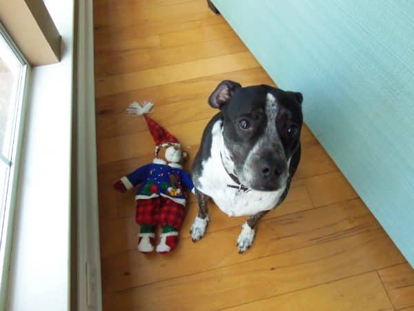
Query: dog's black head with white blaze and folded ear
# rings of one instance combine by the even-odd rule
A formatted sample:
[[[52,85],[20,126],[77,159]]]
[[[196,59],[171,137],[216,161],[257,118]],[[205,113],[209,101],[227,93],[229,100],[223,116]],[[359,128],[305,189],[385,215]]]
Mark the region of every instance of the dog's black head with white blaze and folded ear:
[[[242,185],[260,191],[284,187],[299,147],[302,94],[267,85],[221,82],[208,98],[223,117],[224,165]]]

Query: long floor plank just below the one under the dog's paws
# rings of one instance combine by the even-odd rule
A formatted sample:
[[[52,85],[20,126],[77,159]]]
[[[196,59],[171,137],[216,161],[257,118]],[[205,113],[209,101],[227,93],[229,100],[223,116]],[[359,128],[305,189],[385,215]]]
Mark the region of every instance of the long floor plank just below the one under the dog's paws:
[[[210,238],[213,236],[215,234],[211,234]],[[213,249],[206,249],[201,254],[202,259],[194,260],[193,264],[202,264],[209,257],[215,258],[216,252],[223,252],[225,248],[219,247],[218,242],[214,254],[211,252]],[[195,247],[187,247],[185,254],[194,255],[193,249]],[[251,250],[255,252],[254,249]],[[256,249],[258,251],[259,247]],[[253,252],[246,256],[253,256]],[[199,251],[197,253],[200,254]],[[235,256],[233,254],[229,253],[229,256]],[[167,270],[175,270],[177,265],[168,265],[172,256],[164,257],[164,270],[154,270],[153,273],[163,274],[168,273]],[[143,265],[149,265],[152,260],[147,257]],[[403,261],[404,258],[384,231],[377,229],[255,261],[105,294],[103,304],[106,310],[217,310],[344,279]],[[129,273],[123,265],[112,265],[112,270],[122,268],[124,274]],[[108,281],[106,284],[113,285]],[[125,284],[119,285],[127,288]],[[185,293],[185,299],[180,293]]]

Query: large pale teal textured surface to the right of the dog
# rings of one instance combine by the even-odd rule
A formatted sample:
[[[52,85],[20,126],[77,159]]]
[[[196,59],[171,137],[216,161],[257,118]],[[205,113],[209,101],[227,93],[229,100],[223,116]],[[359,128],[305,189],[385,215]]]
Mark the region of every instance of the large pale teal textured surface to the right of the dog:
[[[213,3],[414,265],[414,1]]]

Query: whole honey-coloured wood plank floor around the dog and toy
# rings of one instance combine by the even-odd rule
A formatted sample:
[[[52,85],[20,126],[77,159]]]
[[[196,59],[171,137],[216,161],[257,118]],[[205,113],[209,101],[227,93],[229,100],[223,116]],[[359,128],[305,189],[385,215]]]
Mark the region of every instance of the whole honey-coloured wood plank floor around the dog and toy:
[[[190,168],[213,88],[274,83],[205,0],[95,0],[94,10],[104,310],[414,310],[413,270],[306,126],[290,194],[246,254],[235,246],[244,218],[214,206],[191,242],[193,196],[179,247],[139,253],[134,191],[112,183],[150,162],[154,142],[126,106],[154,102],[151,117],[186,147]]]

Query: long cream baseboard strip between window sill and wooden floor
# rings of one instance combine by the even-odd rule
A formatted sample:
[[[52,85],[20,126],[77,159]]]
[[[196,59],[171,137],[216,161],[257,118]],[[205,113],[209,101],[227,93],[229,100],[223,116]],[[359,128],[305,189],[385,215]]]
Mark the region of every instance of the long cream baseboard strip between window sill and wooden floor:
[[[102,310],[92,0],[77,3],[77,310]],[[95,269],[88,296],[86,265]]]

